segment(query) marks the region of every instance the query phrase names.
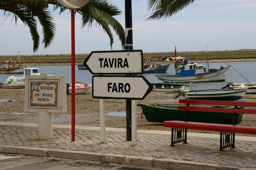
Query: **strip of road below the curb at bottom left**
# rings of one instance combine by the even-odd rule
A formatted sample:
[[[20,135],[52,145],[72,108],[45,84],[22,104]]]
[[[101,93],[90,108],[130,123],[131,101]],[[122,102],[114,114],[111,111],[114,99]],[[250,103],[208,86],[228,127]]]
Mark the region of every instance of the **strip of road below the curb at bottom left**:
[[[0,154],[0,170],[155,170],[96,161]]]

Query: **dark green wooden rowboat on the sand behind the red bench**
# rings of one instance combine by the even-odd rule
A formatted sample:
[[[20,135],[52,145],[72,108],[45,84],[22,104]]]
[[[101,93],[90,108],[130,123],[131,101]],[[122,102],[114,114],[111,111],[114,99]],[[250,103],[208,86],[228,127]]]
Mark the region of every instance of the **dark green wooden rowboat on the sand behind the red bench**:
[[[164,122],[165,120],[184,120],[186,111],[178,110],[178,106],[144,104],[140,103],[142,112],[148,122]],[[215,106],[221,107],[221,106]],[[243,107],[240,107],[243,108]],[[237,114],[236,124],[242,121],[243,114]],[[232,124],[233,113],[216,113],[216,112],[195,112],[190,111],[188,114],[189,122],[205,122]]]

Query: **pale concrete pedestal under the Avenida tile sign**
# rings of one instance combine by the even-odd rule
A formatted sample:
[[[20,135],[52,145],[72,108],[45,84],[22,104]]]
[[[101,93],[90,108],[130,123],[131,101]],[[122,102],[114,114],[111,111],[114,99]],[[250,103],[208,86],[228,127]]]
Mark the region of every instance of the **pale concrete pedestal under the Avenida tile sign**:
[[[38,139],[51,139],[52,133],[52,113],[48,113],[47,110],[38,110]]]

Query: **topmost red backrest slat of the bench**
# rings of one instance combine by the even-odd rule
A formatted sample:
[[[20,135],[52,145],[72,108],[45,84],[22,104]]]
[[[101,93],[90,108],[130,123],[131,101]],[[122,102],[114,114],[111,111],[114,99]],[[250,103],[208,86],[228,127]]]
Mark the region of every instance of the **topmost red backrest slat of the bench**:
[[[179,103],[256,107],[256,102],[230,102],[230,101],[218,101],[218,100],[180,99]]]

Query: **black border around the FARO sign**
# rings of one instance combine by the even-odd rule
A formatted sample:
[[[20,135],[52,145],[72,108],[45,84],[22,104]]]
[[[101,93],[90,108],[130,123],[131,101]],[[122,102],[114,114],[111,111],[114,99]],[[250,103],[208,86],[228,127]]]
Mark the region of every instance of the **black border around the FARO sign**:
[[[141,77],[143,80],[148,84],[148,90],[144,94],[142,98],[125,98],[125,97],[101,97],[101,96],[94,96],[94,77]],[[139,85],[138,85],[139,86]],[[153,90],[153,86],[150,84],[150,82],[144,77],[144,76],[125,76],[125,75],[120,75],[120,76],[115,76],[115,75],[94,75],[92,76],[92,98],[103,98],[103,99],[130,99],[130,100],[143,100],[151,91]]]

